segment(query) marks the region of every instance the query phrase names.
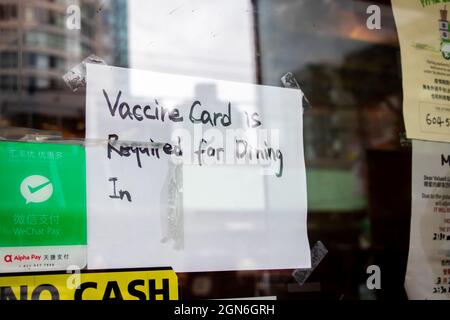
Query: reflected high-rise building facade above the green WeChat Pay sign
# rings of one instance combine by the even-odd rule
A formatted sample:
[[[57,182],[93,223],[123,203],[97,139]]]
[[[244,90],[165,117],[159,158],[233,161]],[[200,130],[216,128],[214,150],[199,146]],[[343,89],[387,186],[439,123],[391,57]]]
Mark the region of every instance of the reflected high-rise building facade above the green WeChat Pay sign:
[[[78,1],[80,30],[66,27],[69,4],[73,3],[0,4],[2,125],[43,129],[49,122],[67,136],[82,137],[84,95],[71,92],[63,74],[91,54],[110,65],[128,66],[127,1]]]

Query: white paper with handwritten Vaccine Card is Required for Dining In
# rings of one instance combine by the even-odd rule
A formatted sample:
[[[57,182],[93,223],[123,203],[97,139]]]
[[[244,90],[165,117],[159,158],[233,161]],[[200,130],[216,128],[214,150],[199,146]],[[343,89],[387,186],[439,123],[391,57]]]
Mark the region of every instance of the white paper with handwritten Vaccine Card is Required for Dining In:
[[[88,65],[88,267],[309,268],[302,98]]]

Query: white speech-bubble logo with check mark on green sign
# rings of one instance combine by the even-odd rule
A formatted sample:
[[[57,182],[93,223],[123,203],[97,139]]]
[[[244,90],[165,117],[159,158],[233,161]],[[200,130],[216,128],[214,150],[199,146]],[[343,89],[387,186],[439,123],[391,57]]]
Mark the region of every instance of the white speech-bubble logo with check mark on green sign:
[[[27,204],[30,202],[40,203],[47,201],[52,196],[53,185],[44,176],[28,176],[20,184],[20,193],[22,193]]]

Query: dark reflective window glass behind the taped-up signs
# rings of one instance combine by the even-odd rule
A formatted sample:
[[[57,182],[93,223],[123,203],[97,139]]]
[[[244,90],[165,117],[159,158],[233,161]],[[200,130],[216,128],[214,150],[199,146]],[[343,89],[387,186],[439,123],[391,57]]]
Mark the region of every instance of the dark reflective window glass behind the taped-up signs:
[[[371,4],[380,10],[379,29],[368,28]],[[302,286],[293,269],[185,272],[180,295],[407,299],[411,146],[402,138],[402,60],[390,1],[16,0],[0,3],[0,34],[0,140],[37,135],[83,145],[86,88],[73,91],[64,75],[91,55],[108,66],[276,88],[292,73],[310,106],[301,127],[307,235],[311,248],[320,241],[328,253]],[[282,113],[283,105],[273,110]],[[232,176],[218,190],[236,186]],[[208,196],[195,181],[191,188]],[[269,203],[265,192],[255,189],[247,200]],[[197,198],[190,200],[195,207]],[[201,210],[223,209],[209,200]],[[366,285],[370,265],[383,272],[380,290]]]

